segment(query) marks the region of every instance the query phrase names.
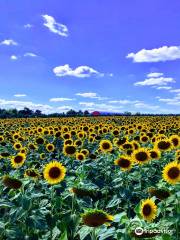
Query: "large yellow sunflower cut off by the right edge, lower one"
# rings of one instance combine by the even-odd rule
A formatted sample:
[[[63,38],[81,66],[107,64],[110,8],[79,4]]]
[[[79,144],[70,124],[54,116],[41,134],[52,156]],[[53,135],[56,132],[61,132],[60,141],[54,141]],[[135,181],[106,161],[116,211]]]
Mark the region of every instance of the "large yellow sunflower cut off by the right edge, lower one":
[[[162,172],[163,179],[169,184],[176,184],[180,180],[180,163],[173,161],[168,163]]]

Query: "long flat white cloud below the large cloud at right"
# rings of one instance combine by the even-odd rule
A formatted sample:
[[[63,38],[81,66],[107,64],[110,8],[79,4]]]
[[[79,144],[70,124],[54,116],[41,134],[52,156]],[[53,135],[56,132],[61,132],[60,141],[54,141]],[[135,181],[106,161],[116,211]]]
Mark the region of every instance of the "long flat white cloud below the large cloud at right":
[[[173,78],[167,77],[151,77],[147,78],[144,81],[134,83],[135,86],[153,86],[153,85],[167,85],[168,83],[174,83],[175,80]]]

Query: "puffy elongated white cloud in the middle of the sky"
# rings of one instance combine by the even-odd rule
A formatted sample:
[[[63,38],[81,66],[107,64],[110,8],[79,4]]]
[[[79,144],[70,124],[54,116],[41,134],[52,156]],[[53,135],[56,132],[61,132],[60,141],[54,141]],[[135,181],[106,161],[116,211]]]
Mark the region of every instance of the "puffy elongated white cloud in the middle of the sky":
[[[94,70],[88,66],[79,66],[75,69],[72,69],[69,64],[65,64],[64,66],[58,66],[53,69],[53,72],[57,77],[64,77],[64,76],[72,76],[72,77],[91,77],[91,76],[104,76],[103,73],[99,73],[98,71]]]

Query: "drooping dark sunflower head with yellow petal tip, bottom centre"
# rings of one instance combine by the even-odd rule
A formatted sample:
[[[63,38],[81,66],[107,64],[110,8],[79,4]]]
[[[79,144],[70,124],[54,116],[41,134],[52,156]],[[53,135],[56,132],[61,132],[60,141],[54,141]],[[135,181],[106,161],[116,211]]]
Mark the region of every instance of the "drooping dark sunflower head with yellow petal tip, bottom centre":
[[[99,227],[113,221],[113,216],[107,214],[102,210],[90,209],[82,214],[83,224],[89,227]]]

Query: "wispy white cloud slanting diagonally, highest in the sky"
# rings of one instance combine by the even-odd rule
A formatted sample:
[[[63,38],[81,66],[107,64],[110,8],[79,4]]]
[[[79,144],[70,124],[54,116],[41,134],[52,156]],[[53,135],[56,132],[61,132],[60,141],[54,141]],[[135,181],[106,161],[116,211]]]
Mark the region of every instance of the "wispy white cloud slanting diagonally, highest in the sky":
[[[56,22],[56,20],[47,14],[42,15],[44,19],[44,26],[46,26],[51,32],[63,37],[68,36],[68,28],[66,25]]]

